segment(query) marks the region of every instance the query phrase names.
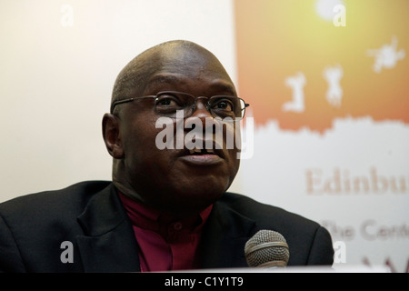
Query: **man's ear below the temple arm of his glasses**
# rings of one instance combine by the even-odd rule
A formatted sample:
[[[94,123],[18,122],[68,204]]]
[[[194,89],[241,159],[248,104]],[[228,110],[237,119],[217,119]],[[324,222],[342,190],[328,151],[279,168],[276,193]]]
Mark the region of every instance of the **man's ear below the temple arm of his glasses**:
[[[124,157],[121,136],[119,135],[119,119],[115,115],[105,114],[103,117],[103,136],[109,155],[120,159]]]

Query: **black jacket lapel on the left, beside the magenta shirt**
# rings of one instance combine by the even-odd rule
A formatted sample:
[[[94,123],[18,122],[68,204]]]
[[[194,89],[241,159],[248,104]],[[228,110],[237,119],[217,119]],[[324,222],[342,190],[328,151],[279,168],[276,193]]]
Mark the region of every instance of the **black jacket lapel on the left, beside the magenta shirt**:
[[[93,196],[78,216],[85,236],[77,236],[85,272],[138,272],[132,225],[111,184]]]

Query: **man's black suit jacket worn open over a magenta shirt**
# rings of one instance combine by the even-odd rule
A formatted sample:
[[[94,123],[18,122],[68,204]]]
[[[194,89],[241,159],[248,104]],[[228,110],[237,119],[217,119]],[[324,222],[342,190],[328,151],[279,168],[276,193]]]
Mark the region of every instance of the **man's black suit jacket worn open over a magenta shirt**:
[[[281,233],[289,266],[332,265],[324,227],[283,209],[232,193],[214,204],[202,236],[204,268],[244,267],[244,244],[260,229]],[[71,242],[74,263],[62,263]],[[91,181],[0,204],[0,271],[135,272],[138,246],[111,182]]]

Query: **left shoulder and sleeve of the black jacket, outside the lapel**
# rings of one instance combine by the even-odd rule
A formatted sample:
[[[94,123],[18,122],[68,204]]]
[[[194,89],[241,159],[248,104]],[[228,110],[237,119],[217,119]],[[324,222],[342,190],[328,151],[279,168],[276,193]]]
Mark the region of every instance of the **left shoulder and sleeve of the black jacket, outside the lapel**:
[[[83,233],[77,216],[91,197],[110,184],[82,182],[0,204],[0,272],[53,272],[58,267],[77,267],[61,264],[61,243],[74,241]]]

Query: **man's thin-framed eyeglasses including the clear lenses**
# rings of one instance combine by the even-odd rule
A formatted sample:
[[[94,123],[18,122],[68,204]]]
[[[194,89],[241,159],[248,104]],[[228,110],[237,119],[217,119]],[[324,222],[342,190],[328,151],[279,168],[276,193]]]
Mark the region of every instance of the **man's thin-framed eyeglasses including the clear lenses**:
[[[214,95],[204,97],[190,95],[182,92],[164,91],[157,95],[147,95],[135,98],[128,98],[115,101],[111,105],[111,113],[114,113],[116,105],[120,105],[134,100],[153,98],[155,100],[155,113],[171,118],[176,118],[177,111],[183,110],[184,118],[194,114],[197,99],[207,99],[205,108],[214,118],[231,118],[233,121],[239,121],[244,117],[245,108],[249,106],[243,99],[233,95]]]

